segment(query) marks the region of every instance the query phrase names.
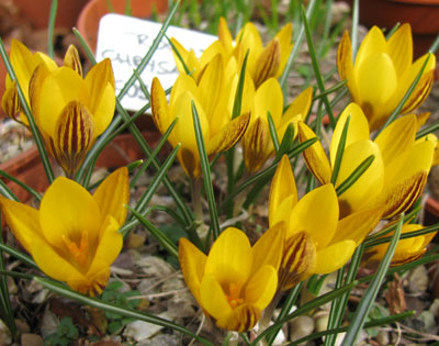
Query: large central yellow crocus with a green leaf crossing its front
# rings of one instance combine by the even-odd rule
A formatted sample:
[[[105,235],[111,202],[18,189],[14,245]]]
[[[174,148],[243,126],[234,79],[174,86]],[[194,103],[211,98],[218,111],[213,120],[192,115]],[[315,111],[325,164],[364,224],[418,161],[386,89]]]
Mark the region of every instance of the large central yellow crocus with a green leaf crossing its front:
[[[229,91],[221,55],[206,66],[199,83],[188,75],[180,75],[172,87],[169,104],[160,81],[157,78],[153,80],[151,109],[155,124],[165,133],[172,121],[179,119],[168,141],[172,146],[181,143],[178,158],[187,175],[193,179],[201,177],[201,166],[192,101],[199,114],[207,155],[212,156],[229,149],[239,141],[250,119],[247,113],[232,120],[227,111]]]

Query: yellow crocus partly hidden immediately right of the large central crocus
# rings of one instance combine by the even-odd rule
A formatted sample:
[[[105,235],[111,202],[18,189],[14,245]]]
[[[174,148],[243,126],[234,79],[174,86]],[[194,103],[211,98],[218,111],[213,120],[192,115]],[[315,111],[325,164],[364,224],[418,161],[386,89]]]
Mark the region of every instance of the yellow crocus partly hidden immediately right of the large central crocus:
[[[268,112],[273,120],[278,138],[281,142],[290,123],[303,120],[309,111],[313,89],[305,89],[283,114],[283,96],[277,79],[266,80],[255,93],[250,124],[243,137],[244,161],[247,171],[258,171],[273,154],[274,146],[268,124]],[[283,115],[282,115],[283,114]],[[297,131],[294,131],[296,134]]]

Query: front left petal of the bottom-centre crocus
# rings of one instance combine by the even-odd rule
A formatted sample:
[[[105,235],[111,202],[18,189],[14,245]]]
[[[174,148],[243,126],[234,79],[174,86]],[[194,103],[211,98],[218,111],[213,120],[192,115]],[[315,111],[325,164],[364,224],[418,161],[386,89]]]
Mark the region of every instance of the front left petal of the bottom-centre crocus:
[[[232,313],[222,284],[213,275],[205,275],[200,284],[201,306],[216,320]]]

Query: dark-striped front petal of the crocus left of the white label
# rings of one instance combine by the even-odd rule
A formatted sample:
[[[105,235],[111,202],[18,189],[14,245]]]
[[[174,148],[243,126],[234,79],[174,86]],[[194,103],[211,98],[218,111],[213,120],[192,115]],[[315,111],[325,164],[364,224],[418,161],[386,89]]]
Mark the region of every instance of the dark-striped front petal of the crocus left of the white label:
[[[56,125],[52,146],[58,164],[72,177],[93,144],[93,115],[79,101],[68,103]]]

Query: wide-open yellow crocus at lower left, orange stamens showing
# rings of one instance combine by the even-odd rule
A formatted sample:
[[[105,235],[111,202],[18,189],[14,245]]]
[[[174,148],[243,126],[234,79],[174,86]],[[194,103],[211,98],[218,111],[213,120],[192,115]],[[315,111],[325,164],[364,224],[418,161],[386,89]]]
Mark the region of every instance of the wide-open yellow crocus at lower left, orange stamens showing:
[[[7,223],[47,276],[81,293],[101,293],[122,249],[128,172],[120,168],[91,196],[65,177],[44,194],[40,210],[0,197]]]

